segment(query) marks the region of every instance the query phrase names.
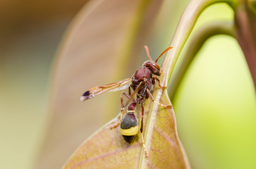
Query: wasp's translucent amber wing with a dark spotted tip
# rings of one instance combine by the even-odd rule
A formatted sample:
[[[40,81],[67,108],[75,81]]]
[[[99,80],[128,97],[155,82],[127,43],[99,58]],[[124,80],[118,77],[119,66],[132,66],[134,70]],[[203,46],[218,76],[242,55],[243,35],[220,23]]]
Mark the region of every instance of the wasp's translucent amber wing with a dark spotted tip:
[[[104,92],[107,92],[107,91],[124,90],[125,88],[128,88],[131,85],[131,82],[132,82],[132,78],[127,78],[122,81],[90,88],[88,91],[84,92],[80,100],[85,101],[95,96],[98,96],[100,94],[103,94]]]

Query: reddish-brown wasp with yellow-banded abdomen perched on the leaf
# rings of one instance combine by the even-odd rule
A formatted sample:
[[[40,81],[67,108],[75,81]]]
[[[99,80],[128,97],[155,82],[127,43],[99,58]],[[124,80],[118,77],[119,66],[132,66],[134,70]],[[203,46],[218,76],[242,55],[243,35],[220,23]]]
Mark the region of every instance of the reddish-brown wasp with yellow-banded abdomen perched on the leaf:
[[[158,86],[160,88],[166,89],[166,86],[160,86],[159,84],[160,81],[158,76],[160,76],[160,66],[157,64],[157,61],[165,52],[170,50],[172,47],[168,47],[166,50],[164,50],[162,54],[155,61],[153,61],[149,55],[149,48],[147,46],[144,46],[144,47],[146,50],[146,54],[149,57],[149,60],[145,61],[143,65],[132,75],[131,78],[127,78],[122,81],[90,88],[88,91],[84,92],[80,100],[85,101],[97,95],[103,94],[104,92],[107,92],[107,91],[118,91],[118,90],[124,90],[125,88],[129,88],[129,94],[125,92],[122,92],[121,94],[120,121],[115,126],[112,126],[111,129],[119,126],[120,124],[120,133],[122,134],[124,140],[127,143],[131,144],[132,141],[134,140],[134,137],[139,132],[138,119],[134,114],[134,112],[137,104],[140,104],[141,105],[140,133],[141,133],[142,145],[144,146],[145,157],[148,157],[146,148],[145,148],[144,139],[142,136],[143,118],[144,118],[144,101],[145,99],[150,98],[151,101],[153,101],[154,103],[160,106],[163,106],[164,108],[172,108],[171,105],[163,105],[158,103],[157,101],[154,101],[153,96],[150,93],[150,89],[153,87],[153,85],[156,82],[158,82]],[[136,94],[136,99],[133,99],[133,95],[131,95],[131,88],[133,90],[133,95]],[[124,96],[127,97],[132,103],[128,105],[127,113],[123,115],[123,112],[125,112],[124,101],[123,101]]]

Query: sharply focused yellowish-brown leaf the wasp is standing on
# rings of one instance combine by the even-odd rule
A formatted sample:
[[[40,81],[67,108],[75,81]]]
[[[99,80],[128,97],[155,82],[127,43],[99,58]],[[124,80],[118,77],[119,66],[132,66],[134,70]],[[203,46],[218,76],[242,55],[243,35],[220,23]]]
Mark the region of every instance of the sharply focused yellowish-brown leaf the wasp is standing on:
[[[166,92],[160,101],[171,104]],[[140,111],[137,114],[140,117]],[[86,140],[64,168],[189,168],[172,108],[153,105],[149,99],[145,102],[144,139],[149,158],[145,158],[139,134],[129,145],[120,127],[110,130],[118,121],[119,117],[113,119]]]

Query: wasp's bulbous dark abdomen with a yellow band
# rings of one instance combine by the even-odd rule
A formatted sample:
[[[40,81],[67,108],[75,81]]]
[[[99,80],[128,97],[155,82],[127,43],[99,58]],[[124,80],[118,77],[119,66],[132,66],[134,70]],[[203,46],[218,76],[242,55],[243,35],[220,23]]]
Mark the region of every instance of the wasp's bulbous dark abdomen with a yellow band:
[[[138,133],[138,119],[134,113],[124,114],[120,124],[120,133],[127,143],[132,143]]]

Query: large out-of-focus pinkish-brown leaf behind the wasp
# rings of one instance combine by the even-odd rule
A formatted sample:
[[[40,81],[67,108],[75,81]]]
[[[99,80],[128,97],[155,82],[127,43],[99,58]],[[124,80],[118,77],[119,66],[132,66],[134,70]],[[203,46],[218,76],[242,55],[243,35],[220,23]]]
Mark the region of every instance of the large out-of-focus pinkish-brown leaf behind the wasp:
[[[55,59],[51,119],[35,168],[60,168],[102,126],[107,110],[117,114],[116,109],[105,106],[116,104],[119,108],[120,94],[117,100],[102,95],[85,103],[80,102],[80,96],[93,86],[113,82],[113,77],[114,81],[127,78],[125,74],[131,77],[133,72],[125,71],[133,69],[131,63],[143,50],[161,2],[90,1],[75,17]]]

